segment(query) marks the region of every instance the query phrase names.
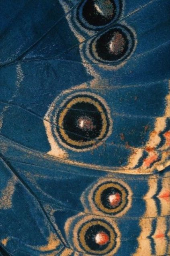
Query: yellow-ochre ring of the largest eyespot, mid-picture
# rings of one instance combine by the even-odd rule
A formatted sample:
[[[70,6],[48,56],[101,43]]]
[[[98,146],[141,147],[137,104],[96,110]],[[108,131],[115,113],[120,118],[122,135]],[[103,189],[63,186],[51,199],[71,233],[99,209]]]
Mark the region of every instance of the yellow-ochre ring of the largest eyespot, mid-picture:
[[[100,132],[100,136],[98,136],[95,140],[91,140],[91,141],[73,141],[72,139],[69,138],[69,136],[66,134],[66,132],[64,131],[63,127],[63,120],[64,117],[66,116],[66,113],[68,112],[68,110],[76,103],[78,102],[85,102],[85,103],[90,103],[93,104],[98,111],[101,114],[101,118],[102,118],[102,129]],[[61,133],[61,136],[63,136],[63,138],[65,139],[65,141],[67,141],[69,144],[74,145],[74,146],[87,146],[87,145],[91,145],[96,143],[96,140],[100,140],[104,134],[106,133],[107,130],[107,119],[106,119],[106,115],[102,109],[102,107],[100,106],[100,104],[88,97],[78,97],[76,99],[73,99],[72,101],[70,101],[68,103],[68,105],[66,105],[66,108],[63,109],[63,111],[61,112],[60,116],[59,116],[59,120],[58,120],[58,125],[59,125],[59,131]]]

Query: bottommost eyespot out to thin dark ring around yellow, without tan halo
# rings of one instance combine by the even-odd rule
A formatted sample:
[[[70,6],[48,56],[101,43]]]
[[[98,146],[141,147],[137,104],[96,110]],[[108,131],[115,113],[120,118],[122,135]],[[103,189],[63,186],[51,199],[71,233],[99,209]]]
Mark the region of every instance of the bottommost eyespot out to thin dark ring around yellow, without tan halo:
[[[117,245],[117,233],[109,222],[92,219],[80,226],[78,240],[80,247],[90,254],[107,254]]]

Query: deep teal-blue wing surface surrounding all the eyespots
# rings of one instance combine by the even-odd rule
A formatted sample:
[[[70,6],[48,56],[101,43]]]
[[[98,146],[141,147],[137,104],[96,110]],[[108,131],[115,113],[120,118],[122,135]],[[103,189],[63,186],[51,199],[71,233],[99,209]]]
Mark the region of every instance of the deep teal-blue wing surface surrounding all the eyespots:
[[[118,167],[124,170],[128,164],[131,147],[145,147],[156,118],[165,114],[170,78],[170,2],[119,2],[123,6],[119,20],[109,23],[109,27],[89,32],[78,25],[75,16],[80,1],[67,1],[68,14],[56,0],[1,1],[1,256],[47,255],[39,248],[47,245],[50,233],[61,241],[57,250],[61,252],[71,245],[76,251],[72,230],[80,220],[77,214],[84,213],[80,197],[86,191],[84,201],[88,214],[93,214],[88,192],[108,176],[126,183],[133,193],[129,210],[120,218],[114,218],[121,233],[121,245],[115,255],[133,255],[139,246],[139,221],[146,210],[143,197],[149,189],[148,179],[154,177],[153,174],[118,174],[116,171]],[[91,40],[117,24],[129,27],[134,36],[135,47],[129,59],[124,63],[119,61],[119,66],[94,63],[88,55]],[[81,42],[75,29],[79,39],[84,38]],[[96,84],[90,87],[96,77]],[[80,85],[84,89],[77,89]],[[66,90],[67,94],[62,94]],[[45,115],[56,97],[55,109],[58,109],[66,97],[82,91],[94,93],[106,102],[113,127],[104,143],[90,151],[76,152],[59,144],[68,153],[67,160],[71,160],[63,161],[47,154],[51,145],[44,125]],[[159,157],[168,122],[160,132]],[[146,156],[144,152],[136,168],[140,168]],[[82,167],[77,162],[93,166]],[[106,166],[112,172],[105,171]],[[157,196],[168,171],[168,168],[162,172],[154,169],[158,188],[153,199],[159,216],[162,205]],[[75,220],[66,234],[64,226],[73,216]],[[168,217],[166,221],[168,241]],[[156,248],[152,235],[156,225],[154,219],[148,237],[153,254]],[[2,240],[6,237],[9,240],[4,246]]]

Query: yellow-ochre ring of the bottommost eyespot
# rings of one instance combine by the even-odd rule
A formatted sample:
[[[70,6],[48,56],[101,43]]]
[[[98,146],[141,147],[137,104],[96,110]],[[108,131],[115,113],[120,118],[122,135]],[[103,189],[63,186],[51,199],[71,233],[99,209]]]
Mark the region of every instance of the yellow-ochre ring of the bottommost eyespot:
[[[106,228],[110,233],[110,243],[108,244],[107,248],[105,248],[102,251],[91,250],[90,247],[87,246],[86,241],[85,241],[85,235],[86,235],[87,230],[90,227],[94,226],[94,225],[101,225],[102,227]],[[87,222],[87,223],[84,224],[84,226],[82,227],[82,229],[79,233],[79,239],[80,239],[80,242],[81,242],[83,248],[87,252],[95,253],[95,254],[98,254],[98,255],[99,254],[104,254],[104,253],[109,252],[112,248],[114,249],[114,246],[115,246],[115,231],[113,230],[113,228],[110,227],[109,224],[107,224],[107,223],[105,223],[101,220],[93,220],[93,221],[90,221],[90,222]]]

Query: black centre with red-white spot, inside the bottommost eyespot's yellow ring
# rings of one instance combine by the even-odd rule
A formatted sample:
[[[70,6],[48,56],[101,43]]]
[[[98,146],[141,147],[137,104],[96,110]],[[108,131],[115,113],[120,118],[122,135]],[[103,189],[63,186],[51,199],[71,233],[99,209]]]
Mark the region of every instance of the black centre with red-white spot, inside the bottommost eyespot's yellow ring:
[[[101,235],[103,243],[97,243],[97,235]],[[84,238],[91,250],[102,251],[107,248],[110,243],[110,232],[102,225],[93,225],[88,228]]]

